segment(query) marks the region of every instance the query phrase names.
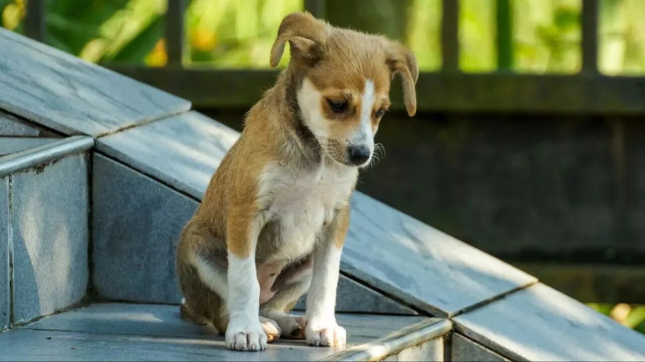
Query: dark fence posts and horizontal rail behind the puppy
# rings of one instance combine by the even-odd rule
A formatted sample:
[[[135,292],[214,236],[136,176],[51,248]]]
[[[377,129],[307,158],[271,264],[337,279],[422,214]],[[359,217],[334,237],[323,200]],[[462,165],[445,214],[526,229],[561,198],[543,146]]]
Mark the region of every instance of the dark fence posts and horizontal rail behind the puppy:
[[[497,1],[497,43],[510,42],[501,32],[510,0]],[[45,39],[45,2],[28,1],[26,35]],[[188,0],[168,0],[164,68],[104,64],[128,77],[191,100],[196,108],[248,108],[270,88],[276,70],[184,68],[184,10]],[[305,0],[305,9],[324,17],[324,0]],[[599,0],[582,0],[582,67],[573,75],[531,75],[510,70],[512,54],[498,46],[498,70],[469,74],[459,70],[459,0],[442,0],[442,67],[424,72],[417,84],[421,112],[576,113],[589,115],[645,115],[645,77],[608,77],[598,71]],[[393,107],[402,110],[394,89]]]

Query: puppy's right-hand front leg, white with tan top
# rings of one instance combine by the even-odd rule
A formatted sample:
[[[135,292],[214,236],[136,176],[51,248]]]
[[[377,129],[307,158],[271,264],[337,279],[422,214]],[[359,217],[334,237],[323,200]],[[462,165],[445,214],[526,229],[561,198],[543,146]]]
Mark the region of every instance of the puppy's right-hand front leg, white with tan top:
[[[307,293],[307,327],[304,330],[310,345],[345,345],[346,332],[336,323],[335,306],[342,245],[349,223],[347,206],[338,211],[313,253],[312,285]]]

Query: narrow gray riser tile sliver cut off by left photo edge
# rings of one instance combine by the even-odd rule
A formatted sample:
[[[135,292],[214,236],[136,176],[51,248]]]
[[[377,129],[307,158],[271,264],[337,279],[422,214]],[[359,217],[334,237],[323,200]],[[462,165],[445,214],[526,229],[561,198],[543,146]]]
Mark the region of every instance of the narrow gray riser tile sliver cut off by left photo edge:
[[[9,326],[9,178],[0,177],[0,330]]]

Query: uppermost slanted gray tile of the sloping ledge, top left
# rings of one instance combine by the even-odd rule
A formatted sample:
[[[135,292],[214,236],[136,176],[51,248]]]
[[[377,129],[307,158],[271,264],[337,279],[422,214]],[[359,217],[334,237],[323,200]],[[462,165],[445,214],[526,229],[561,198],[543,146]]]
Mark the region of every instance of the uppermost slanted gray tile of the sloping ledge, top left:
[[[0,29],[0,108],[68,135],[100,135],[190,102]]]

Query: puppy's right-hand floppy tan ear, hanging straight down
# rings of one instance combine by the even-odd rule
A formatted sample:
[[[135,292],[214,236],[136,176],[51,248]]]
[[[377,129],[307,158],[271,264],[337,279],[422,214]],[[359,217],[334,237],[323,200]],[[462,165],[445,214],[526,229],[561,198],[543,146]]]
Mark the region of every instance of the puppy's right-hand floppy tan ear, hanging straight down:
[[[415,84],[419,79],[417,57],[407,46],[395,42],[388,44],[387,57],[392,77],[396,74],[401,75],[405,108],[408,115],[412,117],[417,113],[417,91],[415,90]]]

